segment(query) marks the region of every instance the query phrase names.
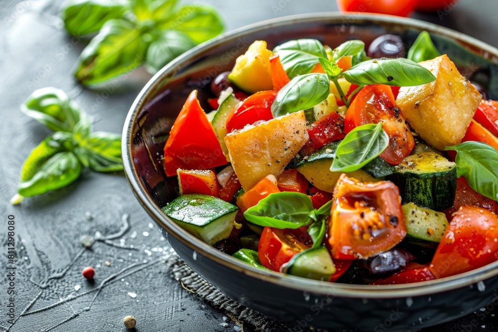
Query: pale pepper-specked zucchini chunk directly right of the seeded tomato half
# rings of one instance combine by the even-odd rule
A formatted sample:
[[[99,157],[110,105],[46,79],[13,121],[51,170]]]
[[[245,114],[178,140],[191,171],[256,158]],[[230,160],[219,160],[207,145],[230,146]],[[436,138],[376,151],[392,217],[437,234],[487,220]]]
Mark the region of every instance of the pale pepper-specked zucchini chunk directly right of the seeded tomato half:
[[[424,242],[439,243],[448,227],[446,215],[431,209],[416,206],[413,203],[404,204],[401,209],[405,217],[406,238],[409,242],[420,244]],[[415,241],[411,241],[409,238]]]

